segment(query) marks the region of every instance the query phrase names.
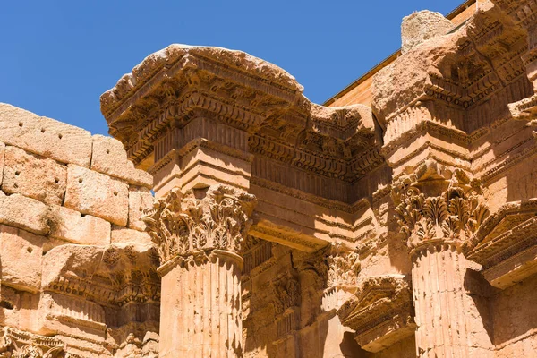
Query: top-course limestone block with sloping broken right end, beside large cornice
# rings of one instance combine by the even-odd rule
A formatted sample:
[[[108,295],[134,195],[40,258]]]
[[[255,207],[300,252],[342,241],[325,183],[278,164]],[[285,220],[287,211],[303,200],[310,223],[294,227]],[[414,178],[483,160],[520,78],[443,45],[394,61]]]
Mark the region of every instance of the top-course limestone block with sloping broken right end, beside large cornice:
[[[92,140],[91,170],[115,176],[134,185],[149,189],[153,187],[153,176],[134,167],[127,159],[121,141],[103,135],[94,135]]]

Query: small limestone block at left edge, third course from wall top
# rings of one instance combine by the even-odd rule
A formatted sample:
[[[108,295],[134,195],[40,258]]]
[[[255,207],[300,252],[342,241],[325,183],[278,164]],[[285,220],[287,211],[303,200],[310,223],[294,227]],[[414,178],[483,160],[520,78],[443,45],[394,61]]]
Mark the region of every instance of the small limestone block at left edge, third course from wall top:
[[[0,195],[0,224],[20,227],[34,234],[47,234],[48,209],[38,200],[21,194]]]

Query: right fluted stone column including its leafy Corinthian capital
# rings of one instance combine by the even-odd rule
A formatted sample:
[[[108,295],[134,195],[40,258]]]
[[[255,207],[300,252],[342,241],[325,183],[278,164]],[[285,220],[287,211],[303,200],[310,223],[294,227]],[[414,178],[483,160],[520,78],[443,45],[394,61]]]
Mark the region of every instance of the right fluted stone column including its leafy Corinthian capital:
[[[488,217],[479,184],[463,171],[426,162],[393,187],[411,253],[418,357],[487,357],[486,322],[468,294],[463,251]]]

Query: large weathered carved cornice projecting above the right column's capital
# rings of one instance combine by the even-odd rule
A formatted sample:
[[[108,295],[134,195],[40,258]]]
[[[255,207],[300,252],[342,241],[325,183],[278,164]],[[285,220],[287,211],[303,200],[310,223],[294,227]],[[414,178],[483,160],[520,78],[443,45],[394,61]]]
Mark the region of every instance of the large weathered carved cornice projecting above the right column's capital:
[[[423,103],[438,107],[431,106],[430,116],[439,116],[439,124],[447,128],[465,133],[486,128],[483,122],[490,118],[480,118],[480,106],[486,109],[498,102],[494,106],[503,107],[509,96],[524,97],[530,90],[523,86],[518,94],[512,91],[520,87],[517,81],[526,72],[521,60],[526,51],[524,30],[487,4],[463,28],[401,55],[373,80],[372,106],[387,128],[385,142],[395,143],[399,136],[413,132],[416,123],[401,117]],[[426,117],[416,122],[423,120]],[[478,128],[473,128],[475,122]]]

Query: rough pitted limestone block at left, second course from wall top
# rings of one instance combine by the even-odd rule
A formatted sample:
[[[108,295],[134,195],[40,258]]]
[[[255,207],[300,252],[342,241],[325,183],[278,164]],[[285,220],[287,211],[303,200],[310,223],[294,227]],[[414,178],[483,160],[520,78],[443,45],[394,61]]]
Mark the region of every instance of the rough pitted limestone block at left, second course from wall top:
[[[47,204],[62,205],[66,182],[66,166],[17,147],[6,147],[4,192],[18,192]]]

